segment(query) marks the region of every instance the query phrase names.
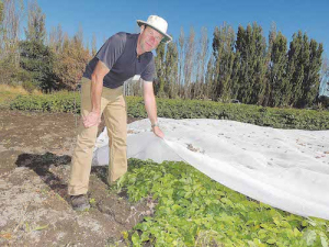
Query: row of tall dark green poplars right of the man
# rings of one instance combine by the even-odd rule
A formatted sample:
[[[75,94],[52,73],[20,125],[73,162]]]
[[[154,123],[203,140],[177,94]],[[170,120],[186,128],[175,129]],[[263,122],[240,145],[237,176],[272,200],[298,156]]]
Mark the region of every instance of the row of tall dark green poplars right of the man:
[[[298,31],[292,41],[272,24],[268,41],[257,23],[235,33],[226,23],[213,33],[212,52],[202,29],[157,49],[157,91],[162,97],[211,99],[264,106],[311,106],[318,101],[322,63],[321,43]]]

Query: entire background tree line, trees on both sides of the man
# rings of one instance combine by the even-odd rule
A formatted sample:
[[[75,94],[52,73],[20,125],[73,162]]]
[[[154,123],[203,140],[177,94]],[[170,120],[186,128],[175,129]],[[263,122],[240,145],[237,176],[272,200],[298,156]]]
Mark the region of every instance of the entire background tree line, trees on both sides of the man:
[[[83,43],[82,29],[69,37],[61,26],[47,34],[45,14],[36,1],[27,4],[27,26],[20,40],[23,1],[0,0],[0,83],[22,83],[45,92],[73,90],[86,64],[97,53]],[[156,50],[155,89],[161,98],[208,99],[264,106],[305,108],[318,100],[321,43],[298,31],[292,41],[273,24],[265,38],[257,23],[240,25],[237,33],[224,23],[213,40],[207,30],[200,38],[193,27],[181,29],[178,40]]]

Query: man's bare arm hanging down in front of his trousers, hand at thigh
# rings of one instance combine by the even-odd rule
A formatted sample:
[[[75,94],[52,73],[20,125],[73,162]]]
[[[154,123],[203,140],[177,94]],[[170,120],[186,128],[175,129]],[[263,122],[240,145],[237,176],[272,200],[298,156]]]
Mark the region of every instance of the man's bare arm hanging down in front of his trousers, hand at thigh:
[[[101,122],[101,97],[103,90],[103,79],[110,71],[104,63],[98,61],[91,75],[91,112],[83,117],[84,127],[98,125]]]

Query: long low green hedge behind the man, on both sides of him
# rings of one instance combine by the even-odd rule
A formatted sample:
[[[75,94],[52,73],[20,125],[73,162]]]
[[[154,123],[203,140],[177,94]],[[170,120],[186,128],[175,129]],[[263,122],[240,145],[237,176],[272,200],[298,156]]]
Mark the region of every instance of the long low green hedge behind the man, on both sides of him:
[[[147,117],[140,97],[127,97],[128,115]],[[197,100],[157,99],[158,116],[170,119],[222,119],[260,126],[299,130],[329,130],[329,112],[297,109],[263,108],[249,104],[218,103]],[[80,112],[78,92],[44,96],[20,96],[11,109],[49,112]]]

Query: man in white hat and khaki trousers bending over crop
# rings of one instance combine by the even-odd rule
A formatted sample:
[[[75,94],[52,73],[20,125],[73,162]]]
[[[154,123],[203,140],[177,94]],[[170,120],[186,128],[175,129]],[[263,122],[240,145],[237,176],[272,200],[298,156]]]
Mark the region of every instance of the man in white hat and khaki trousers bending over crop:
[[[91,159],[101,114],[104,115],[110,137],[109,184],[127,171],[126,157],[126,104],[123,83],[140,75],[144,81],[144,101],[154,133],[163,137],[157,121],[157,105],[152,87],[155,61],[151,50],[160,42],[169,43],[167,22],[157,15],[137,21],[139,34],[117,33],[110,37],[87,65],[81,81],[81,115],[77,146],[72,157],[68,194],[72,207],[89,209],[87,198]]]

